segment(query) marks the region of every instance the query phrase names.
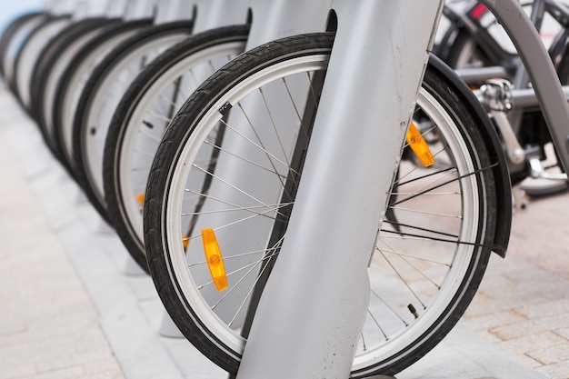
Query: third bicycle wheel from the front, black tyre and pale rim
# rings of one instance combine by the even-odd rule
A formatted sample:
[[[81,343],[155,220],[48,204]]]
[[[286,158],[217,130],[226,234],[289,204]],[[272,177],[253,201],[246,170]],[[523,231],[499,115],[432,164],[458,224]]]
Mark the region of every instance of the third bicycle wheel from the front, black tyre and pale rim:
[[[191,34],[191,21],[148,27],[116,45],[96,65],[85,83],[71,131],[75,179],[95,209],[105,218],[108,216],[103,192],[103,150],[116,105],[148,62]]]

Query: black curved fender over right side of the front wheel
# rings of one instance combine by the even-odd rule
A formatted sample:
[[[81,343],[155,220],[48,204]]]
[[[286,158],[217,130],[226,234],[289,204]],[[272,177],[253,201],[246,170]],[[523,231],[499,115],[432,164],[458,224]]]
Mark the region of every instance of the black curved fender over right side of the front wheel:
[[[498,209],[496,212],[492,251],[504,258],[512,229],[512,185],[502,143],[484,107],[464,81],[454,73],[454,70],[435,55],[430,56],[429,65],[455,85],[456,90],[464,96],[464,105],[468,106],[473,115],[478,118],[477,124],[494,163],[492,169],[496,185]]]

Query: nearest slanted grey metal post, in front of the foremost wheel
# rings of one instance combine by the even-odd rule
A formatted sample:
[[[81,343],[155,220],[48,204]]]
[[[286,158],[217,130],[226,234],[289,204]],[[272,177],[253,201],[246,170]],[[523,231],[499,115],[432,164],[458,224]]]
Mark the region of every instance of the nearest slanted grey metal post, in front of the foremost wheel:
[[[442,6],[334,0],[338,30],[303,181],[237,379],[349,376],[366,266]]]

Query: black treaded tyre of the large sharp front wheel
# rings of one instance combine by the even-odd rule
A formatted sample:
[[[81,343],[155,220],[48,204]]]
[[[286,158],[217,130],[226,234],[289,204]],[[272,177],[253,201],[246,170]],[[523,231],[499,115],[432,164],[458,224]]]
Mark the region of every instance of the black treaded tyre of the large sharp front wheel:
[[[185,337],[199,350],[204,352],[215,364],[218,364],[230,373],[235,373],[238,369],[240,359],[238,353],[228,351],[228,347],[220,344],[215,335],[208,334],[209,332],[205,331],[205,325],[200,322],[199,316],[192,314],[193,311],[189,304],[178,298],[179,284],[171,282],[175,278],[170,277],[172,267],[169,265],[167,257],[165,257],[169,252],[165,247],[166,244],[161,231],[162,224],[167,222],[164,219],[163,212],[165,211],[162,204],[165,202],[167,194],[165,188],[168,186],[172,172],[170,164],[177,160],[185,140],[193,132],[192,129],[197,122],[195,120],[199,120],[205,114],[205,111],[210,104],[215,102],[217,96],[225,93],[229,87],[240,80],[238,73],[248,73],[250,75],[266,65],[282,62],[287,56],[303,54],[301,52],[311,51],[314,54],[329,54],[333,38],[334,36],[330,34],[285,38],[240,55],[238,59],[225,65],[223,69],[211,76],[186,102],[175,117],[175,121],[166,130],[165,137],[155,155],[145,194],[144,223],[147,259],[151,275],[155,281],[155,287],[163,304],[165,304],[166,310]],[[279,53],[274,54],[275,50]],[[462,133],[467,135],[469,141],[471,141],[469,146],[470,154],[481,158],[483,166],[491,167],[492,164],[490,163],[488,151],[485,149],[484,139],[477,129],[478,125],[480,125],[476,122],[480,121],[477,120],[478,115],[473,114],[468,106],[463,107],[461,101],[457,102],[457,98],[464,100],[465,103],[472,101],[472,99],[464,98],[460,90],[456,91],[454,89],[453,81],[446,80],[442,72],[437,69],[437,67],[442,66],[440,62],[436,63],[433,58],[431,63],[435,63],[435,68],[433,68],[433,65],[430,65],[425,74],[425,81],[428,83],[430,80],[433,82],[430,85],[436,86],[431,95],[435,95],[439,101],[444,99],[445,104],[449,106],[451,113],[458,120],[467,120],[464,121],[466,125]],[[456,105],[458,105],[458,111],[453,108]],[[190,125],[187,125],[188,120]],[[484,234],[484,236],[478,235],[478,241],[482,244],[482,247],[469,265],[470,274],[466,275],[468,277],[464,279],[460,290],[456,291],[454,297],[456,302],[449,304],[445,310],[446,313],[439,317],[434,326],[432,325],[421,337],[417,338],[417,340],[420,340],[419,344],[409,346],[404,351],[395,354],[394,357],[375,364],[373,367],[368,367],[364,371],[352,373],[353,377],[367,377],[372,374],[396,374],[402,371],[405,367],[414,364],[424,354],[432,350],[434,345],[444,338],[444,335],[453,328],[454,324],[464,313],[467,305],[474,297],[478,284],[482,280],[491,253],[490,244],[494,238],[495,220],[490,217],[490,215],[495,214],[497,207],[493,190],[494,175],[492,170],[484,170],[484,175],[487,175],[484,177],[484,188],[486,188],[486,185],[490,186],[487,188],[487,193],[483,196],[484,201],[487,201],[484,206],[486,217],[484,222],[488,223],[488,233]],[[478,228],[478,231],[481,233],[480,228]]]

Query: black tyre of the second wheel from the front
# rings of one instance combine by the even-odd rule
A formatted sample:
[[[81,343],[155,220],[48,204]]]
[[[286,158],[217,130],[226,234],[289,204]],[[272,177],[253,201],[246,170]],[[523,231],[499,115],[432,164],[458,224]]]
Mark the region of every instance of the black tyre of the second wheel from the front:
[[[118,180],[118,176],[121,175],[118,166],[118,161],[122,154],[120,146],[125,138],[125,129],[129,119],[145,91],[170,67],[176,65],[188,55],[193,55],[211,45],[246,40],[248,34],[249,25],[225,26],[193,35],[187,40],[170,47],[136,76],[135,81],[129,86],[115,109],[115,114],[106,137],[103,165],[107,213],[109,214],[110,222],[115,226],[116,233],[121,238],[123,244],[125,244],[126,250],[146,273],[148,273],[148,264],[146,262],[144,241],[138,238],[134,226],[125,214],[125,205],[122,200],[122,192]]]

